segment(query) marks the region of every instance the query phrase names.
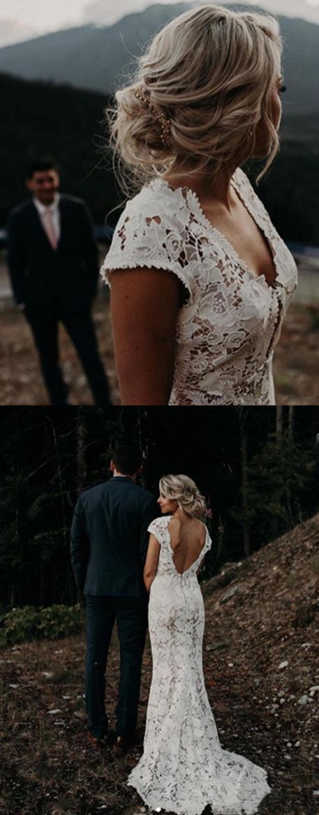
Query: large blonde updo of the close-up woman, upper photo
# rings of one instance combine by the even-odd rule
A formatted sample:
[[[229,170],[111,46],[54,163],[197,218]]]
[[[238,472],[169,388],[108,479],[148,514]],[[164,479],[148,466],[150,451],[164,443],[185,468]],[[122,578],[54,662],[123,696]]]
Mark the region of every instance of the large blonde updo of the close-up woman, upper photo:
[[[269,151],[261,178],[279,148],[271,100],[281,51],[279,26],[269,15],[202,6],[171,20],[107,111],[120,165],[140,183],[167,170],[173,177],[185,161],[191,173],[241,166],[255,155],[262,120]]]

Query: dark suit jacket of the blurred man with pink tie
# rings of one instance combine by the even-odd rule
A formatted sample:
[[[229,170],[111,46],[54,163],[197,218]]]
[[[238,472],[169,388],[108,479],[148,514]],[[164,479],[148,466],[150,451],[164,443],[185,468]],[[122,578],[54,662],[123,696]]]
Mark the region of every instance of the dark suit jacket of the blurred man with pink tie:
[[[91,215],[80,198],[60,196],[60,240],[52,249],[33,200],[13,209],[8,221],[8,266],[17,303],[27,309],[56,305],[86,311],[99,277]]]

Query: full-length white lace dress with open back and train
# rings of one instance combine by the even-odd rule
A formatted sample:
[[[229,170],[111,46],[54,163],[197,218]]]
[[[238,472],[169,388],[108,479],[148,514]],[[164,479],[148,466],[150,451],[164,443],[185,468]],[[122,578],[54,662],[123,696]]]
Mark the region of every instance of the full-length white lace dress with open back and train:
[[[204,605],[197,568],[176,571],[168,531],[170,517],[148,526],[161,552],[149,599],[153,677],[148,700],[144,754],[128,784],[154,811],[201,815],[256,813],[270,792],[266,771],[220,746],[202,670]]]

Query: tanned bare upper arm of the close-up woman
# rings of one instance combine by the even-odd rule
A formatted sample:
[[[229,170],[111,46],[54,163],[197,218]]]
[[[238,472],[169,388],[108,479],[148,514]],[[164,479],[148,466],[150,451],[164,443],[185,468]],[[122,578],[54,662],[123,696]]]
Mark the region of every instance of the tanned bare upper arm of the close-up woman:
[[[179,286],[170,271],[113,271],[111,317],[122,404],[168,404]]]

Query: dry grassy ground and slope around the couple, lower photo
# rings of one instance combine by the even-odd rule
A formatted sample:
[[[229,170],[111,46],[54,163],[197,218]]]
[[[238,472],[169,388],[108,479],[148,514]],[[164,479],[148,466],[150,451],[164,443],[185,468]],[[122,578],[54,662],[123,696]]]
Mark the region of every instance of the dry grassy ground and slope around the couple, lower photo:
[[[260,815],[312,815],[317,778],[319,515],[203,586],[204,671],[222,746],[268,770]],[[2,650],[0,760],[4,815],[133,815],[124,757],[86,744],[82,637]],[[140,697],[140,741],[151,678],[149,643]],[[107,699],[117,694],[114,635]],[[207,815],[209,813],[207,812]]]

